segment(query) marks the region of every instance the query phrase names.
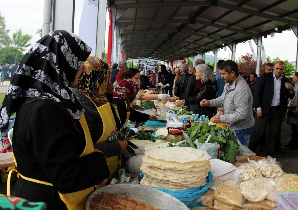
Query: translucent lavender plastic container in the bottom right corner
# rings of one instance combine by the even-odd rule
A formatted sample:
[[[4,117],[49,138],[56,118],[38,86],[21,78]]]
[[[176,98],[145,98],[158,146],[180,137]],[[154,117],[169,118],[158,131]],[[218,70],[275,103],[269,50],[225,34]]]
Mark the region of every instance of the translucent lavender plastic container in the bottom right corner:
[[[276,209],[296,209],[298,210],[298,192],[276,191]]]

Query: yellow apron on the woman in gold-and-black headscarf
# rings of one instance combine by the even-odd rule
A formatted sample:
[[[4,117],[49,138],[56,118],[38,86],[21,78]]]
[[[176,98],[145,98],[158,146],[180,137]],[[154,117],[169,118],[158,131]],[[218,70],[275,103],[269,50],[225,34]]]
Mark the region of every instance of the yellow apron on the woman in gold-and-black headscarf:
[[[85,96],[87,95],[85,94]],[[94,101],[89,96],[87,97],[94,103]],[[97,105],[94,103],[94,106],[96,107],[103,121],[103,134],[101,135],[101,137],[96,143],[103,144],[111,141],[117,141],[118,132],[117,132],[116,122],[113,117],[114,115],[113,115],[110,103],[108,102],[104,105],[101,105],[100,107],[97,107]],[[112,105],[112,106],[115,108],[117,116],[119,116],[117,106],[116,105]],[[111,180],[115,175],[115,173],[120,169],[121,157],[120,155],[108,157],[107,162],[108,162],[108,167],[110,169],[110,180]],[[98,189],[103,186],[104,185],[96,185],[95,187],[96,189]]]

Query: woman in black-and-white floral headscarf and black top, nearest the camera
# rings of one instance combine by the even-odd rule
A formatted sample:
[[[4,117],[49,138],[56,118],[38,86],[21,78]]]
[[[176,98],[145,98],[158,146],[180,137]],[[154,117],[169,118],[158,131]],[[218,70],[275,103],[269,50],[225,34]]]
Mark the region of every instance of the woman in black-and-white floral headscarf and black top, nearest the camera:
[[[75,34],[52,31],[25,54],[0,109],[0,143],[17,111],[13,153],[19,173],[13,195],[47,209],[85,209],[94,185],[109,177],[94,150],[76,85],[91,48]]]

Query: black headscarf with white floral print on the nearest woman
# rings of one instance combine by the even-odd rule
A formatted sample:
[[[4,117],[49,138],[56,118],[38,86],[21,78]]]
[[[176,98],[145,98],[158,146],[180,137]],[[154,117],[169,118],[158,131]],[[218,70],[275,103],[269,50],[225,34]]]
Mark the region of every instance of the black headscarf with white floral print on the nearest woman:
[[[42,37],[25,54],[0,108],[0,143],[7,136],[12,113],[38,99],[61,102],[73,119],[84,112],[69,87],[91,48],[75,34],[55,30]]]

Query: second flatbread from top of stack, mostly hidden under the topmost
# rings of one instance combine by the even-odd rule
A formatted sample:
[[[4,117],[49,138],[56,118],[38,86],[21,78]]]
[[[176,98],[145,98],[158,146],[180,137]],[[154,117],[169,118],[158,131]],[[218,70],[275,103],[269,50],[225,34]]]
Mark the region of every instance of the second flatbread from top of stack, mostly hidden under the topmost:
[[[170,147],[170,148],[172,148],[172,147]],[[163,149],[163,148],[159,148],[159,149]],[[151,151],[153,151],[153,150],[151,150]],[[149,151],[149,152],[151,152],[151,151]],[[146,154],[148,154],[148,152]],[[154,167],[159,167],[159,168],[164,167],[165,169],[170,169],[170,170],[173,170],[172,168],[176,168],[177,170],[185,170],[185,169],[194,168],[194,167],[198,168],[198,170],[199,170],[202,166],[204,166],[206,164],[210,165],[209,160],[190,161],[187,163],[180,163],[180,162],[176,162],[176,161],[166,161],[166,160],[162,160],[162,159],[159,159],[159,160],[154,159],[154,158],[148,157],[146,154],[143,157],[144,163],[148,163],[149,165],[154,166]],[[191,169],[191,170],[196,170],[196,169]]]

